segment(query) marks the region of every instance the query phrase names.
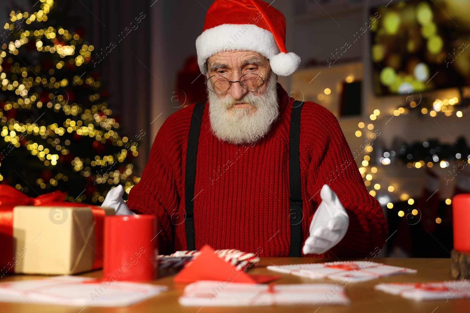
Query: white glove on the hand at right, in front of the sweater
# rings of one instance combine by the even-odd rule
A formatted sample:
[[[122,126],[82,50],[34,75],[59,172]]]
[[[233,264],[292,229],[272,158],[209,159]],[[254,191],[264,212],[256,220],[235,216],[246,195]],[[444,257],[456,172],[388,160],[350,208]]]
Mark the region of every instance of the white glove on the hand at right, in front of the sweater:
[[[302,248],[304,254],[327,252],[345,237],[348,230],[349,217],[336,193],[325,184],[320,197],[322,201],[310,223],[310,236]]]

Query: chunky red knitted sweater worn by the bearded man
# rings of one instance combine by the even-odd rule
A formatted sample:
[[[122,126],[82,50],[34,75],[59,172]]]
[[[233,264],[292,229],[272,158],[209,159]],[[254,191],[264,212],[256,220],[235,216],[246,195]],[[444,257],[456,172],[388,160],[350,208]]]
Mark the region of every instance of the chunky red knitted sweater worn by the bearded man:
[[[209,105],[202,118],[194,191],[196,249],[239,249],[286,257],[290,249],[289,127],[293,99],[278,84],[279,116],[267,135],[252,145],[220,141],[211,133]],[[186,250],[185,167],[194,104],[172,114],[158,131],[141,181],[127,205],[155,214],[161,253]],[[301,113],[300,175],[303,241],[328,184],[349,215],[343,240],[322,255],[366,256],[382,248],[384,213],[364,186],[337,119],[326,108],[305,102]]]

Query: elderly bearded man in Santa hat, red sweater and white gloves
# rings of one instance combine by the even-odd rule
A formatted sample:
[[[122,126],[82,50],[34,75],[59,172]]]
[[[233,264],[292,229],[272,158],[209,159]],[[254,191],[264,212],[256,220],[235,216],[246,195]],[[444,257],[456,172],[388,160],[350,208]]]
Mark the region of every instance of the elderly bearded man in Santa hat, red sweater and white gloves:
[[[264,1],[216,0],[207,11],[196,50],[209,101],[171,115],[128,201],[118,186],[103,203],[157,215],[160,252],[208,244],[339,257],[384,245],[383,210],[337,119],[277,84],[300,63],[285,33],[284,15]]]

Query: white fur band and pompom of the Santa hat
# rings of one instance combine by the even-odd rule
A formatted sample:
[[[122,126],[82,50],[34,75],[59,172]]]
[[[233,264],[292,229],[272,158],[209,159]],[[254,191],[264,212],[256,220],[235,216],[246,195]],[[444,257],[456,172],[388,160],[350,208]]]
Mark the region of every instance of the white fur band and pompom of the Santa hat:
[[[222,24],[205,30],[196,39],[197,63],[204,73],[204,63],[214,53],[222,51],[255,51],[270,59],[277,75],[288,76],[300,64],[295,53],[279,53],[274,36],[254,24]],[[274,61],[274,63],[273,63]]]

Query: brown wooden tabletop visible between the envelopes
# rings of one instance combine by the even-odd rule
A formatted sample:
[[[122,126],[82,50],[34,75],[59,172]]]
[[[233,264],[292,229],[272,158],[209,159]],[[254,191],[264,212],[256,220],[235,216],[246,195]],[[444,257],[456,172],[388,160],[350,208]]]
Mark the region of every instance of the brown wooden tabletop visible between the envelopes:
[[[344,260],[363,260],[363,259],[344,259]],[[321,279],[313,280],[302,278],[294,275],[279,274],[266,269],[268,265],[285,265],[298,263],[317,263],[335,261],[334,259],[313,259],[313,258],[261,258],[260,266],[250,270],[250,273],[258,274],[275,274],[281,275],[278,283],[313,283],[328,282],[336,283],[336,281]],[[185,285],[173,283],[174,270],[160,271],[161,278],[153,281],[155,284],[169,286],[169,291],[164,292],[154,298],[151,298],[140,304],[129,307],[99,308],[99,307],[78,307],[78,306],[58,306],[58,305],[38,305],[27,303],[0,303],[1,313],[99,313],[99,312],[116,312],[116,313],[166,313],[166,312],[188,312],[188,313],[211,313],[211,312],[266,312],[266,313],[327,313],[327,312],[423,312],[423,313],[447,313],[447,312],[470,312],[470,299],[449,299],[432,300],[417,302],[408,300],[399,296],[374,290],[373,287],[379,282],[432,282],[451,280],[449,275],[450,259],[399,259],[399,258],[376,258],[375,262],[384,264],[409,267],[418,270],[416,274],[397,275],[392,277],[381,278],[368,282],[348,283],[345,287],[346,293],[352,301],[351,305],[316,305],[316,306],[278,306],[270,305],[269,307],[207,307],[204,306],[181,306],[178,298],[182,294]],[[101,277],[101,271],[94,271],[83,274],[88,277]],[[3,276],[1,282],[26,280],[43,276],[37,275],[11,275]],[[338,282],[339,283],[339,282]],[[319,308],[320,307],[320,308]],[[82,311],[80,311],[82,310]]]

